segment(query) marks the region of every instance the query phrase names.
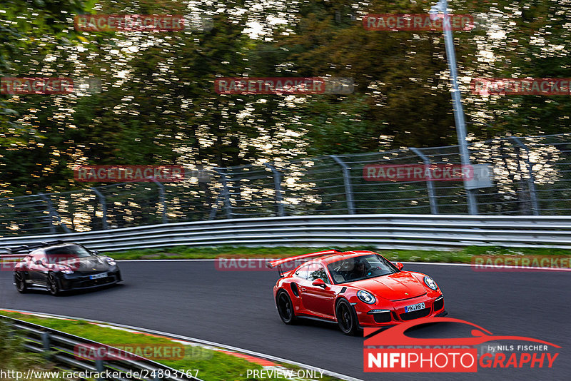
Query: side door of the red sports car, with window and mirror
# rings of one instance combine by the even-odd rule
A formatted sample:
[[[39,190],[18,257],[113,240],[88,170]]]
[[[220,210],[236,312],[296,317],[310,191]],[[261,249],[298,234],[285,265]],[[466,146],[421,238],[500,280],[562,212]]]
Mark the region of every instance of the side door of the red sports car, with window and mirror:
[[[325,283],[325,288],[312,285],[313,281],[321,279]],[[320,263],[311,263],[308,268],[307,279],[301,285],[301,300],[308,312],[318,317],[333,318],[333,302],[335,300],[335,290],[333,290],[328,279],[325,268]]]

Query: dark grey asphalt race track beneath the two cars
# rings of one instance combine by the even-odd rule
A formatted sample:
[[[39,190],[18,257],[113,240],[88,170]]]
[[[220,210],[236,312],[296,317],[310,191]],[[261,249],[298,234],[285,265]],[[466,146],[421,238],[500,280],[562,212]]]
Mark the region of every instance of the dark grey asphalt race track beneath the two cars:
[[[445,295],[448,317],[474,322],[495,335],[534,337],[562,347],[551,369],[479,368],[471,374],[429,374],[364,373],[363,337],[345,336],[336,325],[320,322],[284,325],[272,296],[276,272],[218,271],[213,261],[127,261],[120,266],[123,285],[61,297],[39,292],[20,295],[11,272],[0,272],[0,307],[197,337],[362,380],[569,380],[571,375],[571,273],[567,271],[475,272],[469,266],[405,265],[405,270],[428,273],[436,280]],[[445,327],[430,329],[438,332]],[[227,380],[241,379],[228,375]]]

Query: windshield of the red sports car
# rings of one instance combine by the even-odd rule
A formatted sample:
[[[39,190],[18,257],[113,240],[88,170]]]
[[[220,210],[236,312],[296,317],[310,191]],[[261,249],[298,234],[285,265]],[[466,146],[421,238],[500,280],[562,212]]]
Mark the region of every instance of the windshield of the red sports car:
[[[327,265],[335,283],[380,277],[397,273],[398,269],[378,254],[338,260]]]

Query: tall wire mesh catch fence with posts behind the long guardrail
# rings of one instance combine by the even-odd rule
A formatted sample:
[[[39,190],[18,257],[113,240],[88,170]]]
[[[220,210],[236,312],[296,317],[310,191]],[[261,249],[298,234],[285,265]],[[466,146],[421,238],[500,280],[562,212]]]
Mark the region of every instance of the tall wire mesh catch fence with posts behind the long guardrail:
[[[192,171],[176,183],[114,183],[0,200],[0,235],[106,230],[195,220],[332,214],[570,215],[571,134],[469,145],[462,179],[371,181],[368,166],[460,165],[458,146],[321,156]]]

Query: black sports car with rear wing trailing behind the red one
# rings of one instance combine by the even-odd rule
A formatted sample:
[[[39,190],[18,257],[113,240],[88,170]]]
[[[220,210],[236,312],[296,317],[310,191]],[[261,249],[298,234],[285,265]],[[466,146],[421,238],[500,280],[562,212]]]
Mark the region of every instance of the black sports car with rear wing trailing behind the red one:
[[[47,290],[61,291],[101,287],[121,282],[115,260],[77,243],[41,243],[22,246],[12,253],[27,251],[14,266],[14,285],[20,293]]]

